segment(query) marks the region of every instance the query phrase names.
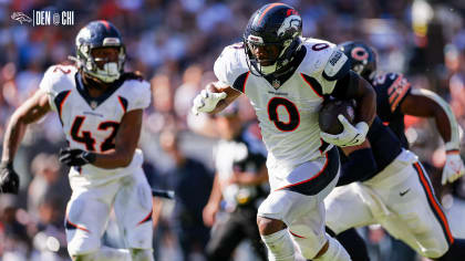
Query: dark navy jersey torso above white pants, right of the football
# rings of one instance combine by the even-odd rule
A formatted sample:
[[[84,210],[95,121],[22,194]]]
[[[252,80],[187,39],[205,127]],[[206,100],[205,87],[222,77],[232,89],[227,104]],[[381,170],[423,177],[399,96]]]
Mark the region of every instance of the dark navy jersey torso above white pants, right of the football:
[[[378,165],[378,169],[373,174],[373,176],[376,176],[376,174],[382,171],[399,156],[399,154],[401,154],[402,145],[396,135],[389,127],[384,126],[383,122],[379,117],[374,118],[366,135],[366,139],[371,144],[371,150]],[[349,160],[341,149],[340,156],[341,164]],[[364,180],[370,178],[371,177],[365,177]]]

